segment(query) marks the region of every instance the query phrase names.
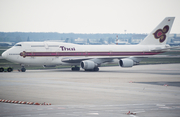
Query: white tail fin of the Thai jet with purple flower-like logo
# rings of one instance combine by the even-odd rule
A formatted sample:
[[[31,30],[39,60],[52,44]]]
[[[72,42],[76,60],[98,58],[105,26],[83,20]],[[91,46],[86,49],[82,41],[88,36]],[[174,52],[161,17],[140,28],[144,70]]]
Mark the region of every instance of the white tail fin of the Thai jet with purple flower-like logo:
[[[166,17],[139,45],[165,45],[175,17]]]

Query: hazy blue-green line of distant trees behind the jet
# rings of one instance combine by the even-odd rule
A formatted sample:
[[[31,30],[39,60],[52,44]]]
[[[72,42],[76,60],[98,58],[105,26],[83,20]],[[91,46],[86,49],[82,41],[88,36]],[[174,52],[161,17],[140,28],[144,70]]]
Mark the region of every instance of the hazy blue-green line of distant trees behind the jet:
[[[46,41],[68,39],[144,39],[147,34],[75,34],[75,33],[52,33],[52,32],[0,32],[0,42],[20,41]]]

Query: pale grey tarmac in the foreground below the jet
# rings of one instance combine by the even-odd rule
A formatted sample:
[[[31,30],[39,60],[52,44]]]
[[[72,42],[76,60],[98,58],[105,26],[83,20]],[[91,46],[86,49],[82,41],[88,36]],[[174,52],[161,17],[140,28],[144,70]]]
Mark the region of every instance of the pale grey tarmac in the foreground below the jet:
[[[0,73],[0,117],[179,117],[180,64]]]

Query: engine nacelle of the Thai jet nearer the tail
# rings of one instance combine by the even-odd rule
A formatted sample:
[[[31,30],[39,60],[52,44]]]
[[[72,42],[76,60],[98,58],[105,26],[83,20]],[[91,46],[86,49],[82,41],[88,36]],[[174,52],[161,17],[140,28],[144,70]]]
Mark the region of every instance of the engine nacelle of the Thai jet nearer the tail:
[[[121,67],[132,67],[133,65],[134,65],[134,62],[131,59],[121,59],[119,61],[119,66]]]

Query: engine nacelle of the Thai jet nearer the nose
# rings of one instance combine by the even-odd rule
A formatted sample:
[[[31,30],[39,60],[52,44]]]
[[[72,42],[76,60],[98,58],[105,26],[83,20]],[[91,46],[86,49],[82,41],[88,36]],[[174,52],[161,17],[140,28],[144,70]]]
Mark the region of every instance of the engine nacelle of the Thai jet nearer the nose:
[[[81,67],[83,69],[94,69],[96,67],[96,63],[90,60],[85,60],[81,62]]]

